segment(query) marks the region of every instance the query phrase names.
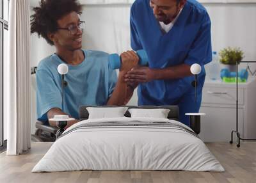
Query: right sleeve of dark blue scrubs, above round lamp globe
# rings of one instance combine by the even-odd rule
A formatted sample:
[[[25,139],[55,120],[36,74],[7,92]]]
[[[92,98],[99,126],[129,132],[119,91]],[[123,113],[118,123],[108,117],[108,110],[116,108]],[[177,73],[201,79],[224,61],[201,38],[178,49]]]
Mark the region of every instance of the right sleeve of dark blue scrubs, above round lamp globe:
[[[207,12],[201,23],[198,34],[193,42],[185,63],[193,65],[205,65],[212,61],[212,46],[211,46],[211,20]]]

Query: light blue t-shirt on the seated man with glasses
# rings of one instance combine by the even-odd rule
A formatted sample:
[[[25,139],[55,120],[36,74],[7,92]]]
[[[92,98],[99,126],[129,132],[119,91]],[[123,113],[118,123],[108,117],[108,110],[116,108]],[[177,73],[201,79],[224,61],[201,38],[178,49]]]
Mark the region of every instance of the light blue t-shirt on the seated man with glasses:
[[[79,106],[103,106],[115,88],[117,75],[108,67],[108,54],[83,50],[85,60],[79,65],[68,65],[65,81],[63,111],[79,119]],[[61,75],[57,67],[64,63],[56,54],[40,61],[36,70],[36,108],[38,120],[47,121],[47,111],[61,109]]]

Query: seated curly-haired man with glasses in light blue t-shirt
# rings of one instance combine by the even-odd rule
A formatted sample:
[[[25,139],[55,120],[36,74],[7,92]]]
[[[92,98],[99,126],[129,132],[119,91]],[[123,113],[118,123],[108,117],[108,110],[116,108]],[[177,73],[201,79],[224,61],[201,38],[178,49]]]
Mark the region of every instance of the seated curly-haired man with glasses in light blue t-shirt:
[[[40,61],[36,70],[38,120],[47,123],[54,115],[69,115],[76,119],[68,122],[69,127],[78,122],[79,106],[120,106],[131,99],[133,90],[124,75],[138,64],[135,52],[121,54],[122,68],[117,77],[108,65],[106,52],[81,49],[84,22],[79,16],[82,6],[76,0],[42,0],[33,10],[31,33],[38,33],[56,48],[56,53]],[[61,63],[68,65],[63,107],[57,70]],[[56,123],[50,121],[50,125]]]

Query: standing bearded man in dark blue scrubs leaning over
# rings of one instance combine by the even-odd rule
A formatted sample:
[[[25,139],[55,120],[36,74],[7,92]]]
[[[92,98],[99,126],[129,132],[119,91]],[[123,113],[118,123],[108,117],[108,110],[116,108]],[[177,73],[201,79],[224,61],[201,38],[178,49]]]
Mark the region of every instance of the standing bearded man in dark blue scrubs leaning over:
[[[148,67],[135,67],[125,81],[138,86],[138,105],[178,105],[180,122],[185,113],[197,113],[202,100],[204,65],[212,60],[211,20],[195,0],[136,0],[131,7],[131,47],[144,49]],[[198,63],[197,100],[190,66]]]

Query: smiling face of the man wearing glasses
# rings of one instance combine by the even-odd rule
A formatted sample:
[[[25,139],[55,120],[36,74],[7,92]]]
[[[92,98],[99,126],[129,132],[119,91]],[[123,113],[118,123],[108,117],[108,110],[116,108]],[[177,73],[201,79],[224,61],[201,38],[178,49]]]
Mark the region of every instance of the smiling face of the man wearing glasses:
[[[82,47],[81,29],[77,29],[75,33],[71,33],[68,28],[78,28],[80,24],[79,15],[76,12],[68,13],[57,20],[58,31],[49,34],[49,38],[54,42],[54,45],[61,51],[76,51]]]

